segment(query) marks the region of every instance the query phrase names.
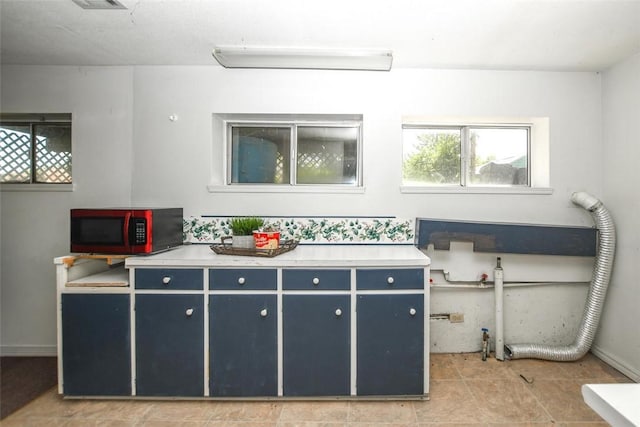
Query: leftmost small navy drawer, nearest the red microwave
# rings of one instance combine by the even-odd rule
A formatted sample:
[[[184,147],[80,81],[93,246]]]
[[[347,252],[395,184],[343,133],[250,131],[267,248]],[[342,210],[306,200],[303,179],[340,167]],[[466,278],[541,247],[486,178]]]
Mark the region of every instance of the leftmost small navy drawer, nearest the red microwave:
[[[136,268],[136,289],[203,289],[202,270],[197,268]]]

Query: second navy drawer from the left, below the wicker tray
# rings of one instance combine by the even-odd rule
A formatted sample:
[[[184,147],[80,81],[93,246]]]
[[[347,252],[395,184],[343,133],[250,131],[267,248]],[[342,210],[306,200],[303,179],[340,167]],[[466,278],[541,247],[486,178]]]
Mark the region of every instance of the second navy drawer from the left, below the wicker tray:
[[[276,290],[277,274],[274,269],[211,269],[209,289]]]

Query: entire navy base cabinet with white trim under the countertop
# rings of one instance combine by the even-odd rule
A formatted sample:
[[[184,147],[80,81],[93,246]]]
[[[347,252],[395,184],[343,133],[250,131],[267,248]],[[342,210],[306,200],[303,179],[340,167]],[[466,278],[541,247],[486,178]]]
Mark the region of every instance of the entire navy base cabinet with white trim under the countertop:
[[[128,289],[59,284],[65,395],[428,394],[419,263],[160,264],[135,267]]]

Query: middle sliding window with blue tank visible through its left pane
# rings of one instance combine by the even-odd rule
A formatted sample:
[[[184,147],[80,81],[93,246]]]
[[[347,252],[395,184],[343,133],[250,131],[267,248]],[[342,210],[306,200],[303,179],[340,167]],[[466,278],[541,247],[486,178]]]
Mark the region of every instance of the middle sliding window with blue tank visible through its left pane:
[[[227,184],[361,186],[361,121],[226,122]]]

